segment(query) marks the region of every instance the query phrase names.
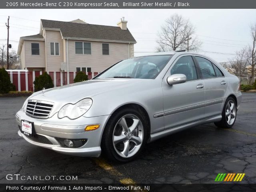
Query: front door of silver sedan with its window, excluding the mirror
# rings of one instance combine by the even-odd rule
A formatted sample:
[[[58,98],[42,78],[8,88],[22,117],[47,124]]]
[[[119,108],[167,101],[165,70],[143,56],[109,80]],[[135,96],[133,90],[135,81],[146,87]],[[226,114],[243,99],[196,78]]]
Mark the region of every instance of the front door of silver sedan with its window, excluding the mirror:
[[[166,78],[171,74],[184,74],[187,81],[169,85]],[[167,72],[162,82],[164,94],[165,129],[204,118],[204,81],[192,56],[181,56]]]

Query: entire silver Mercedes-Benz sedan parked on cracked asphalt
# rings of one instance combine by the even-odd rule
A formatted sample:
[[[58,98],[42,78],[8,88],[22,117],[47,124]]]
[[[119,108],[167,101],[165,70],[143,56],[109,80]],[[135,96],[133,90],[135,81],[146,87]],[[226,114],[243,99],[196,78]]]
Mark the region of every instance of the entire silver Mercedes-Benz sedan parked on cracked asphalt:
[[[196,53],[123,60],[92,80],[32,94],[16,113],[31,144],[74,156],[134,159],[146,142],[199,124],[231,128],[239,80]]]

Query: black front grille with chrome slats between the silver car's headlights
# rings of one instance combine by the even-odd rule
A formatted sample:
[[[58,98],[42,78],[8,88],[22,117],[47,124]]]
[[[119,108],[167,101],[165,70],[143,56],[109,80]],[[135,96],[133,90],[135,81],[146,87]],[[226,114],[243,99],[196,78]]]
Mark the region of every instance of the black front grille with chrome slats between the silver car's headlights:
[[[53,104],[40,100],[28,100],[26,114],[36,118],[48,118]]]

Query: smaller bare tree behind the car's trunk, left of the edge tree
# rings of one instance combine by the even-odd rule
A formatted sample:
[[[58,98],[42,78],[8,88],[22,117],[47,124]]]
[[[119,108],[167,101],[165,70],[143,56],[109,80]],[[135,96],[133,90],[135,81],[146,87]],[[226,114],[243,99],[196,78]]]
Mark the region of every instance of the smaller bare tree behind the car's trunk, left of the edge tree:
[[[247,61],[247,50],[243,48],[236,52],[236,56],[230,59],[230,70],[239,78],[246,75]]]

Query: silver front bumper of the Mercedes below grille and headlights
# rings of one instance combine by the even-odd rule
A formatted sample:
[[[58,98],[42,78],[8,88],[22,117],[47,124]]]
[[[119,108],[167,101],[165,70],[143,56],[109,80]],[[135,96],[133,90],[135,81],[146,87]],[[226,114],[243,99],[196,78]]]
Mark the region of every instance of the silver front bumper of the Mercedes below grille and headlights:
[[[81,116],[75,120],[70,120],[67,117],[59,119],[57,114],[54,114],[54,116],[48,119],[38,119],[18,111],[16,113],[16,122],[18,126],[21,126],[21,120],[34,123],[34,131],[36,136],[38,136],[37,139],[24,135],[20,130],[18,131],[19,136],[31,144],[62,154],[98,157],[101,153],[100,142],[103,130],[109,117],[110,115],[91,118]],[[100,128],[93,131],[84,131],[84,128],[91,124],[100,124]],[[79,148],[68,148],[62,146],[56,138],[86,140],[86,142]]]

